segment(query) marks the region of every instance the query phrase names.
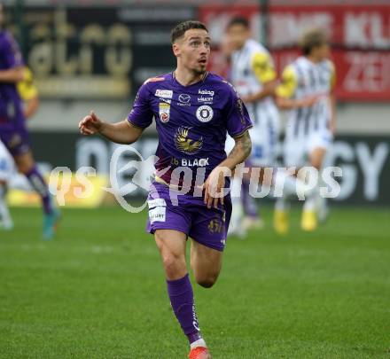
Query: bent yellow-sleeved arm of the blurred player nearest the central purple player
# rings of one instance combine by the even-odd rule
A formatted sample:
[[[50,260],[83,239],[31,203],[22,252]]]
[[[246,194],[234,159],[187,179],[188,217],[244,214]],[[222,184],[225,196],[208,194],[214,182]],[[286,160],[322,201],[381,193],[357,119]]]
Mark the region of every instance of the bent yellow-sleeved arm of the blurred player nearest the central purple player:
[[[277,72],[269,53],[254,53],[251,66],[253,74],[261,82],[262,89],[253,95],[242,98],[246,104],[273,96],[277,88]]]

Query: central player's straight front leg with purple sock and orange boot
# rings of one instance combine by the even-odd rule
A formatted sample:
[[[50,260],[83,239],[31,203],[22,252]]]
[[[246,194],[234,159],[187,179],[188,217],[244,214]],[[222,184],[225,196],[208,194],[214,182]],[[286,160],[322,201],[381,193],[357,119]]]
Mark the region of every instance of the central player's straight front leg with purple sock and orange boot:
[[[187,336],[191,353],[196,358],[208,359],[206,342],[199,331],[192,286],[185,261],[187,236],[178,230],[156,230],[154,233],[162,265],[167,277],[168,296],[175,316]],[[190,356],[191,357],[191,356]]]

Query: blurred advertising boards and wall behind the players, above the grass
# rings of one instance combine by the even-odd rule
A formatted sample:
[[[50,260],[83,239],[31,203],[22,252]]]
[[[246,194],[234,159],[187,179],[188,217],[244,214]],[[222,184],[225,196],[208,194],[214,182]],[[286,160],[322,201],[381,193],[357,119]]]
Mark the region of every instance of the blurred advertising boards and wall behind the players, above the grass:
[[[272,51],[279,72],[299,53],[295,43],[304,29],[326,28],[338,74],[337,137],[328,164],[343,169],[341,192],[334,202],[390,205],[386,185],[390,181],[388,2],[13,3],[7,22],[20,39],[27,65],[35,74],[42,105],[29,127],[35,157],[47,170],[93,166],[99,175],[107,176],[114,147],[101,138],[78,136],[77,123],[86,111],[94,109],[109,121],[123,119],[140,84],[172,70],[175,59],[168,34],[181,20],[198,19],[207,24],[214,43],[210,69],[225,74],[218,45],[227,21],[241,14],[250,19],[254,37]],[[155,130],[148,129],[136,144],[144,158],[154,151],[154,137]],[[131,174],[131,168],[121,173],[120,183],[129,181]],[[139,188],[130,196],[142,194]],[[25,198],[20,200],[25,204]]]

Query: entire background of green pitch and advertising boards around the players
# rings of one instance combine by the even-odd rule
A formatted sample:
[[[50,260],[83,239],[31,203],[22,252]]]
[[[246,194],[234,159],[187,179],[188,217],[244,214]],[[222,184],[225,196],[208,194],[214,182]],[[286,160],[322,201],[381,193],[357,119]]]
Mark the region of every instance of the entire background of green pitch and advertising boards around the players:
[[[78,121],[90,109],[109,121],[124,118],[140,83],[175,66],[168,33],[176,22],[207,23],[212,67],[222,73],[218,43],[232,14],[250,18],[279,70],[304,28],[326,27],[338,71],[329,161],[343,168],[342,192],[314,233],[300,230],[300,207],[293,207],[291,230],[278,237],[272,207],[262,207],[265,228],[228,240],[217,285],[194,285],[199,323],[215,359],[389,357],[388,1],[3,3],[40,91],[28,122],[36,159],[46,172],[91,165],[97,186],[107,183],[115,146],[81,137]],[[136,144],[145,158],[155,136],[148,129]],[[118,176],[124,184],[133,174]],[[131,194],[135,201],[144,195]],[[90,200],[70,193],[57,237],[43,241],[34,196],[11,200],[15,229],[0,231],[1,358],[186,357],[145,212],[129,214],[103,191]],[[107,200],[113,206],[99,206]]]

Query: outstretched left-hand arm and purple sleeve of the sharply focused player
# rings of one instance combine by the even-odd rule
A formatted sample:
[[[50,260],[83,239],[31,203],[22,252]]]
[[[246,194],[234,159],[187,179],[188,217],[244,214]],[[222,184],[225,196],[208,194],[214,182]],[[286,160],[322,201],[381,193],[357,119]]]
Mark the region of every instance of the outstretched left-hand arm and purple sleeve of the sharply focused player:
[[[100,134],[117,144],[133,144],[141,137],[144,129],[151,123],[153,113],[149,102],[150,91],[147,82],[141,86],[136,94],[136,100],[126,120],[117,123],[102,121],[98,116],[90,112],[79,123],[82,135]]]

